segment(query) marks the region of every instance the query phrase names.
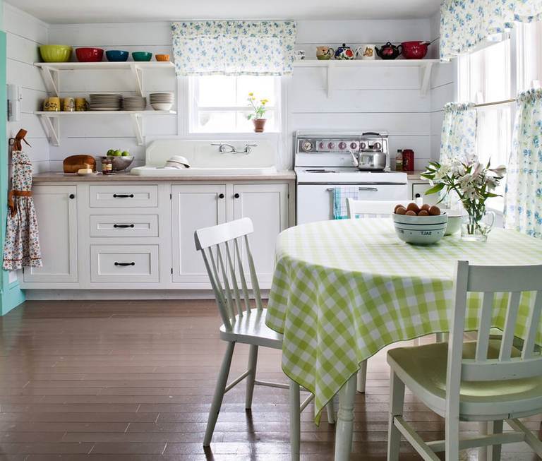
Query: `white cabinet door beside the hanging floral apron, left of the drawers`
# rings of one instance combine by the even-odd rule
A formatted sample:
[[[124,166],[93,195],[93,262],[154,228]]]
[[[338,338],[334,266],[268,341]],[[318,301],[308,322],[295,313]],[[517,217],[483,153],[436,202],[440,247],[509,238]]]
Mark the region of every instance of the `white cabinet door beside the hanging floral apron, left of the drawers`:
[[[77,187],[32,188],[42,268],[25,268],[24,282],[77,282]]]

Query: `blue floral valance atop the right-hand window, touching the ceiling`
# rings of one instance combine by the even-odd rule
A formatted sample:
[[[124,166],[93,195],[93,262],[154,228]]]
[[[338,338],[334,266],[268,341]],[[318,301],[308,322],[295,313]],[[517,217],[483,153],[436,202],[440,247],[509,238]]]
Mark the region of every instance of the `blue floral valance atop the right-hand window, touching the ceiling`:
[[[542,20],[542,0],[444,0],[440,6],[440,59],[457,54],[514,27]]]

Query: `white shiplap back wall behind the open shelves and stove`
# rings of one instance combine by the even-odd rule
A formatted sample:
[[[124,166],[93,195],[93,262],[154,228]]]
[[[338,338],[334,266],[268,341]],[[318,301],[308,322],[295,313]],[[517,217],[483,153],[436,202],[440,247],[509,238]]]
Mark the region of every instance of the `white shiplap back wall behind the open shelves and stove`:
[[[44,28],[47,32],[47,28]],[[171,54],[169,23],[107,23],[49,25],[49,43],[71,44],[74,47],[97,46],[104,49],[145,50]],[[320,44],[347,42],[352,47],[361,44],[383,44],[404,40],[433,40],[432,21],[418,20],[302,20],[298,23],[296,49],[304,49],[312,59]],[[435,45],[436,46],[436,45]],[[435,46],[431,54],[435,54]],[[35,53],[35,47],[30,47]],[[29,56],[30,61],[37,56]],[[325,92],[323,68],[296,68],[287,81],[287,109],[283,136],[282,167],[291,165],[291,133],[297,129],[386,129],[390,132],[392,157],[397,148],[412,148],[416,152],[416,167],[421,168],[430,157],[435,157],[437,145],[438,108],[452,85],[448,71],[436,66],[432,79],[433,90],[425,97],[419,94],[420,77],[417,68],[349,68],[337,71],[332,97]],[[37,85],[42,88],[39,74]],[[135,94],[133,79],[127,71],[73,71],[63,73],[64,95],[86,96],[89,92],[122,92]],[[172,71],[153,71],[147,80],[149,91],[175,91]],[[451,88],[451,86],[450,86]],[[440,104],[440,105],[439,105]],[[177,135],[179,115],[152,116],[145,119],[147,141],[157,137]],[[32,116],[34,119],[35,117]],[[44,136],[41,132],[40,136]],[[439,140],[440,143],[440,140]],[[64,120],[61,126],[61,145],[49,146],[50,168],[61,169],[64,157],[88,153],[100,155],[109,148],[130,150],[136,157],[134,164],[142,164],[145,149],[133,138],[131,122],[121,116]]]

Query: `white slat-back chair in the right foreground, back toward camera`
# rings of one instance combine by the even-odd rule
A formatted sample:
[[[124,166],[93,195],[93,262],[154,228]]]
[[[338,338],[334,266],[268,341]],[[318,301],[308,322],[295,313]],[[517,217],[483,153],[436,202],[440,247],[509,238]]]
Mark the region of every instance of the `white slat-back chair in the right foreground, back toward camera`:
[[[483,294],[476,341],[464,342],[467,293]],[[522,294],[534,292],[528,318],[519,318]],[[387,353],[391,366],[390,427],[387,460],[399,459],[404,436],[424,460],[459,460],[459,450],[491,447],[500,459],[502,443],[524,441],[539,457],[542,443],[519,417],[542,413],[542,355],[535,340],[542,311],[542,265],[483,266],[457,262],[454,306],[448,343],[401,347]],[[502,337],[491,336],[495,293],[508,294]],[[519,321],[526,327],[522,349],[514,347]],[[404,421],[404,387],[446,419],[445,440],[424,442]],[[488,421],[493,433],[459,440],[459,421]],[[513,431],[502,433],[506,421]]]

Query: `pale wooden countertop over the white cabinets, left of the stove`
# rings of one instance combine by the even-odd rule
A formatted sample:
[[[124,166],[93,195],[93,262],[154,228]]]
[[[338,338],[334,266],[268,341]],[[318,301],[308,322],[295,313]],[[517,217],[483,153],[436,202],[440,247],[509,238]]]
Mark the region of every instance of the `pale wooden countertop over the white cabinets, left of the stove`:
[[[294,181],[296,174],[292,170],[285,170],[273,174],[237,174],[237,175],[213,175],[213,176],[138,176],[129,173],[117,174],[92,174],[89,176],[78,176],[61,172],[39,173],[32,176],[35,184],[44,182],[177,182],[177,181]]]

